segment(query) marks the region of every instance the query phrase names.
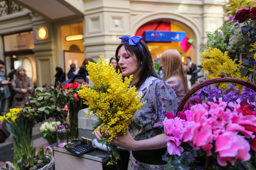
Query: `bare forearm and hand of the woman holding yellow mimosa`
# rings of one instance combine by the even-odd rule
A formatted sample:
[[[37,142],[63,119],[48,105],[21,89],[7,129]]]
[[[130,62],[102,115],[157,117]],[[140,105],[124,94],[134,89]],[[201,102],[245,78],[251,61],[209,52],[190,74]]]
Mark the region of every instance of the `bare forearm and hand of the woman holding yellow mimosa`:
[[[167,147],[167,142],[165,139],[168,137],[169,136],[166,136],[163,132],[162,134],[156,135],[155,137],[149,139],[134,140],[128,131],[128,133],[124,136],[118,136],[117,139],[113,139],[111,143],[132,151],[151,150]]]

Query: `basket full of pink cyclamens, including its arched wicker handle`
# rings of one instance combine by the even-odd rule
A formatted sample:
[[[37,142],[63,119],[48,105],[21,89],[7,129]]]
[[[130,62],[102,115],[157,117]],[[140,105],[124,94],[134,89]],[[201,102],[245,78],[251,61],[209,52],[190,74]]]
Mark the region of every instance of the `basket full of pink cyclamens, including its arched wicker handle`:
[[[166,169],[255,169],[256,111],[255,102],[222,98],[202,103],[200,99],[184,106],[198,87],[215,82],[236,82],[256,91],[256,85],[234,78],[205,81],[192,89],[181,102],[177,115],[166,113]]]

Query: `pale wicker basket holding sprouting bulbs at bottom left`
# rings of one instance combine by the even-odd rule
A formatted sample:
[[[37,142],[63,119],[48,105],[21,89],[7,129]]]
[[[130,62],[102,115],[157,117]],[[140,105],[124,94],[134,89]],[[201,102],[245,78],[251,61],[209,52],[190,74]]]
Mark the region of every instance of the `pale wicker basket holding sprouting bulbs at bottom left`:
[[[50,152],[50,154],[46,154],[48,152]],[[53,170],[54,169],[54,163],[55,163],[55,159],[53,157],[53,151],[52,148],[50,146],[48,146],[45,150],[45,154],[49,157],[52,158],[51,162],[47,165],[45,165],[44,167],[37,169],[37,170]],[[6,168],[7,170],[16,170],[16,168],[13,166],[13,164],[10,161],[5,162]]]

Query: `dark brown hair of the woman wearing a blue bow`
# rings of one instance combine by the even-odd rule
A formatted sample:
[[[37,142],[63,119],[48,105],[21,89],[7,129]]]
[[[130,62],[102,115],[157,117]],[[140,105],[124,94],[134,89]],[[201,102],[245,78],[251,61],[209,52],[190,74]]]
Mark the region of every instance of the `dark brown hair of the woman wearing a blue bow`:
[[[121,72],[121,69],[118,65],[119,60],[117,58],[117,55],[118,55],[119,49],[122,46],[124,46],[124,48],[126,49],[127,52],[129,51],[132,55],[136,56],[138,65],[140,65],[140,63],[141,63],[141,67],[139,70],[140,71],[139,72],[139,81],[135,84],[136,88],[140,88],[140,86],[144,83],[144,81],[150,76],[158,78],[156,76],[156,73],[154,70],[152,56],[148,50],[147,44],[143,41],[140,41],[140,44],[142,45],[143,50],[138,44],[133,46],[133,45],[129,45],[128,42],[123,42],[123,43],[119,44],[119,46],[116,48],[117,68],[120,70],[120,72]]]

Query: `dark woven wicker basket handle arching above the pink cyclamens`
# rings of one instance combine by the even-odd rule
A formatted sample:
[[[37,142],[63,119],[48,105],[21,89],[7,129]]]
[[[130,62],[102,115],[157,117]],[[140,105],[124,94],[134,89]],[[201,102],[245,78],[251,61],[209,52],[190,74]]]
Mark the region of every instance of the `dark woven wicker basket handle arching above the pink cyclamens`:
[[[244,81],[244,80],[240,80],[240,79],[237,79],[237,78],[213,78],[213,79],[210,79],[210,80],[206,80],[204,81],[203,83],[200,83],[198,85],[196,85],[194,88],[192,88],[188,94],[183,98],[183,100],[180,102],[180,105],[177,109],[177,112],[178,111],[181,111],[183,109],[183,107],[185,106],[186,102],[188,101],[188,99],[199,89],[207,86],[207,85],[212,85],[212,84],[215,84],[215,83],[236,83],[236,84],[239,84],[239,85],[244,85],[250,89],[252,89],[254,92],[256,92],[256,85],[251,83],[251,82],[248,82],[248,81]]]

